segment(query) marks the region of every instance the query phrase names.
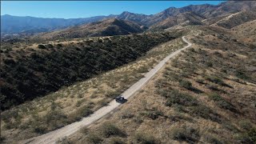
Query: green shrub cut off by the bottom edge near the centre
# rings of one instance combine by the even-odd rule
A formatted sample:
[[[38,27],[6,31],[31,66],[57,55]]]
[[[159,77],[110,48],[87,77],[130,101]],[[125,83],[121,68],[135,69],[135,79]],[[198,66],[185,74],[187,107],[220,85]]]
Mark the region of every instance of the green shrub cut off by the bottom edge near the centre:
[[[157,140],[154,138],[153,135],[146,134],[146,133],[136,133],[134,135],[135,143],[139,144],[154,144],[158,143]]]

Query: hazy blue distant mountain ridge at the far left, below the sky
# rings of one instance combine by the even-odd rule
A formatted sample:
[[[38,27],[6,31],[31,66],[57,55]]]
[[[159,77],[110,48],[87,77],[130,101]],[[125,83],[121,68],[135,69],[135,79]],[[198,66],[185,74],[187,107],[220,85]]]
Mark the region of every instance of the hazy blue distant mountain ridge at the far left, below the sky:
[[[76,26],[89,22],[96,22],[110,16],[97,16],[91,18],[34,18],[1,15],[1,35],[28,33],[36,34],[50,30],[63,29],[68,26]]]

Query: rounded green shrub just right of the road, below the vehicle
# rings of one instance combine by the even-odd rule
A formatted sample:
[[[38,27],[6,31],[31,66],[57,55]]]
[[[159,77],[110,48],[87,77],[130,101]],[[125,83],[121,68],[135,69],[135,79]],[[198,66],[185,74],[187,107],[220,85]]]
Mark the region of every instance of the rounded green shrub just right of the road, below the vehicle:
[[[124,137],[126,136],[126,133],[120,130],[117,126],[114,126],[114,124],[111,123],[104,123],[101,126],[102,135],[105,138],[109,138],[110,136],[119,136]]]

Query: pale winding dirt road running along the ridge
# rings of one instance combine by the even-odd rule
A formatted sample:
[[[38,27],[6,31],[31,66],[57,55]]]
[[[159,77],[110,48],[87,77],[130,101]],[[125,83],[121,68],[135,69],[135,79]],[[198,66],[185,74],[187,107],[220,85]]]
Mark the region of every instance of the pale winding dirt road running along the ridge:
[[[174,53],[168,55],[166,58],[164,58],[161,62],[158,63],[158,65],[154,66],[152,70],[150,70],[148,73],[145,74],[144,78],[141,78],[138,82],[134,83],[133,86],[130,86],[129,89],[127,89],[125,92],[122,93],[124,98],[130,98],[133,94],[135,94],[138,90],[142,88],[154,76],[154,74],[157,74],[157,72],[166,64],[166,62],[173,58],[175,55],[180,53],[182,50],[185,50],[186,48],[190,47],[192,44],[186,40],[186,38],[183,36],[182,40],[186,42],[188,45],[183,47],[182,49],[179,49],[175,51]],[[115,100],[111,101],[107,106],[103,106],[102,108],[96,110],[94,114],[90,114],[89,117],[82,118],[79,122],[71,123],[70,125],[64,126],[58,130],[51,131],[46,134],[42,134],[38,137],[30,138],[22,143],[55,143],[58,141],[59,138],[68,137],[71,134],[74,134],[80,128],[83,126],[89,126],[90,124],[98,121],[98,119],[102,118],[106,114],[110,114],[112,110],[117,108],[120,105],[120,103],[115,102]]]

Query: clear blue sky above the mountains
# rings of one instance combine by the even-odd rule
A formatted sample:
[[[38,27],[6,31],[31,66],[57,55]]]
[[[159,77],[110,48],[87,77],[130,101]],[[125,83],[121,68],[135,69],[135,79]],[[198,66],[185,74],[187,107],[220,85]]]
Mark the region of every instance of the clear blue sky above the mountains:
[[[137,14],[156,14],[170,6],[182,7],[223,1],[1,1],[1,15],[33,16],[40,18],[86,18],[97,15],[121,14],[130,11]]]

